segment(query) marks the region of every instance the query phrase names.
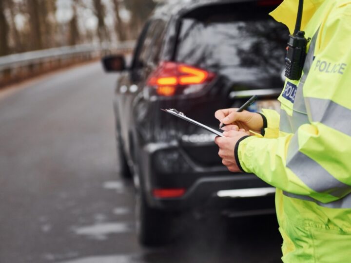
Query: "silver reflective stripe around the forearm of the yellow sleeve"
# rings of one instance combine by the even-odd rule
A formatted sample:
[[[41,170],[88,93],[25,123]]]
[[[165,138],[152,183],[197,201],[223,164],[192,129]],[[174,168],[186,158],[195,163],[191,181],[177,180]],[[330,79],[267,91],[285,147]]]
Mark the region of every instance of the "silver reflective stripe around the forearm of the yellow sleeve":
[[[294,150],[296,150],[296,147]],[[289,155],[292,154],[291,151],[288,152]],[[287,167],[313,191],[329,193],[336,197],[341,197],[350,191],[351,186],[338,181],[320,164],[298,151],[298,149],[293,156],[288,156],[287,159],[289,160],[287,161]]]

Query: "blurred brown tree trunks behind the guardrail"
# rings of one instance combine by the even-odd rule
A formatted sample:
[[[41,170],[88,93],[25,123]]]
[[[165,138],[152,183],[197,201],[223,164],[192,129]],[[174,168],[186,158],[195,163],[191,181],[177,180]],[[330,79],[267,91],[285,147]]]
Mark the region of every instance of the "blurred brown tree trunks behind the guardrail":
[[[156,0],[0,0],[0,56],[136,39]]]

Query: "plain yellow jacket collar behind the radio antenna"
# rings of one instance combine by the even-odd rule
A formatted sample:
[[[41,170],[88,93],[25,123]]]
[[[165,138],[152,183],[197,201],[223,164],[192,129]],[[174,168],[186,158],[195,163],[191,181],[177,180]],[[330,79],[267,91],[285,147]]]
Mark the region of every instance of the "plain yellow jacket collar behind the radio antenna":
[[[323,3],[324,0],[304,0],[302,13],[301,30],[304,30],[306,24],[312,18],[314,12]],[[270,15],[278,22],[285,24],[290,33],[293,33],[297,16],[298,0],[284,0]]]

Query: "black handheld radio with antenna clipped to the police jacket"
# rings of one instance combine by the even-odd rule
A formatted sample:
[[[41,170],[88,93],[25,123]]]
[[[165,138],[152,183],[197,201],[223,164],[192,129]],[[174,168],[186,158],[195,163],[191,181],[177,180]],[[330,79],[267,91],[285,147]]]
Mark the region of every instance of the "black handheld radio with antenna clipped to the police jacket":
[[[285,76],[292,80],[299,80],[306,59],[306,47],[309,39],[305,38],[305,32],[301,31],[303,0],[299,0],[295,30],[289,35],[287,53],[285,57]]]

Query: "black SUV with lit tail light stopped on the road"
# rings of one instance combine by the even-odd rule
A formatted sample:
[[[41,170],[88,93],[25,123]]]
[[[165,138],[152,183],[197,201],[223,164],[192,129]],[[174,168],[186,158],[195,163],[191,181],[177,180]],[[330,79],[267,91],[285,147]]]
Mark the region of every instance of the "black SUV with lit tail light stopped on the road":
[[[233,216],[273,211],[274,189],[253,174],[221,163],[215,135],[160,109],[174,108],[218,127],[218,109],[278,109],[288,32],[268,13],[275,0],[179,0],[159,4],[127,66],[123,56],[103,58],[119,71],[114,109],[121,174],[137,189],[142,244],[162,244],[176,215],[207,202],[230,206]],[[228,202],[230,201],[230,202]],[[233,202],[232,202],[233,201]]]

